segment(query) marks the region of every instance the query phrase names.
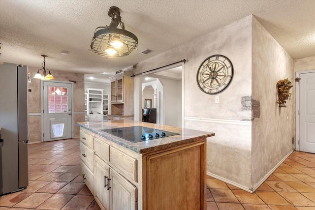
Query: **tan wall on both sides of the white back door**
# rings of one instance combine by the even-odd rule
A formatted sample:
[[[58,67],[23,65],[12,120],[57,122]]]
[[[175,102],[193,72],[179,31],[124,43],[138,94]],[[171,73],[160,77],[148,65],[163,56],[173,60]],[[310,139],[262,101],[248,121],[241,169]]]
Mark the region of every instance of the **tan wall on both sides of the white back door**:
[[[29,92],[29,132],[30,143],[41,141],[41,80],[33,79],[38,68],[29,67],[32,83],[28,83]],[[65,71],[52,71],[55,81],[75,81],[73,85],[73,123],[74,137],[79,137],[77,122],[84,121],[84,74]]]

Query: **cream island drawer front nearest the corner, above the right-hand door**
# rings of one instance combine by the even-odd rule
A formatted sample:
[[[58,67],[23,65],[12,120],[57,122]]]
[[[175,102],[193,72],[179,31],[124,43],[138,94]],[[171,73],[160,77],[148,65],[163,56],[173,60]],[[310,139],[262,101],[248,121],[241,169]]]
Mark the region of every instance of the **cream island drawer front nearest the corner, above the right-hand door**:
[[[126,177],[137,181],[137,159],[111,147],[109,152],[110,163],[118,168]]]

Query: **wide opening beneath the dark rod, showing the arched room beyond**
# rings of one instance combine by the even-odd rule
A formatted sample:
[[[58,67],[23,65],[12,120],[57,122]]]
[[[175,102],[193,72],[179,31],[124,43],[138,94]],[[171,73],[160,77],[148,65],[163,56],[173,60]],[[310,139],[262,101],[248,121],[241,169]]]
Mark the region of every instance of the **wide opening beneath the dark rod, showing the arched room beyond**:
[[[139,95],[135,94],[135,101],[138,100],[139,105],[135,104],[135,120],[150,119],[147,111],[152,109],[153,113],[156,113],[156,123],[184,127],[183,75],[184,63],[179,63],[136,77],[135,84],[139,85]]]

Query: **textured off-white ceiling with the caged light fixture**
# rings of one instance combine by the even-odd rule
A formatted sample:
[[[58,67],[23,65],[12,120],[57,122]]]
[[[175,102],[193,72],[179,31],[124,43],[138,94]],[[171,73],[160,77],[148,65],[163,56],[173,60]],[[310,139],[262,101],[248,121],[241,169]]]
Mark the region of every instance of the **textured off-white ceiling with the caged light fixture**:
[[[110,6],[121,9],[126,30],[139,39],[126,58],[89,51],[95,28],[110,23]],[[40,68],[44,54],[50,70],[114,72],[251,14],[299,59],[315,55],[314,13],[314,0],[0,0],[0,63]],[[153,52],[139,54],[145,49]]]

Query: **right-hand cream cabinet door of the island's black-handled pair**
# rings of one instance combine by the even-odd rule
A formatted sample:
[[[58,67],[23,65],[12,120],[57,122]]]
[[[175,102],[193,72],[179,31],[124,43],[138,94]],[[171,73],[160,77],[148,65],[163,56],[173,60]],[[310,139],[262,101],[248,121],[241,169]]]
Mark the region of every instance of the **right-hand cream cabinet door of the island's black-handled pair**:
[[[110,177],[111,210],[136,210],[137,188],[112,168]]]

